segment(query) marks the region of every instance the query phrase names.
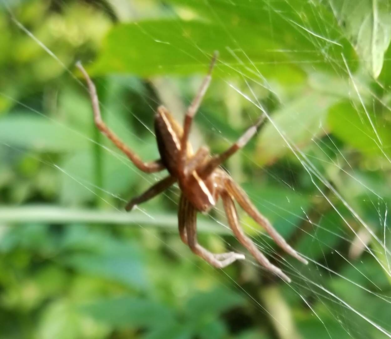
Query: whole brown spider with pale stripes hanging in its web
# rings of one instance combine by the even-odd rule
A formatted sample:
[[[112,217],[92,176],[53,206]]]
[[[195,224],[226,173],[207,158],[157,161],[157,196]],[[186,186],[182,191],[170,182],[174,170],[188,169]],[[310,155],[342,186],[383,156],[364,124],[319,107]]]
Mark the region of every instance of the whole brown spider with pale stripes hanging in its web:
[[[269,271],[277,274],[283,280],[291,282],[291,279],[274,266],[258,250],[255,244],[247,237],[238,221],[238,215],[233,199],[253,218],[263,226],[274,241],[287,253],[294,256],[304,264],[307,260],[301,257],[285,239],[273,228],[270,222],[255,208],[246,193],[235,181],[221,169],[220,165],[232,154],[242,148],[255,135],[262,123],[262,118],[251,127],[235,142],[230,148],[221,154],[211,156],[208,147],[200,147],[195,154],[192,151],[188,136],[190,127],[204,94],[210,84],[213,66],[216,63],[217,52],[214,53],[210,63],[209,72],[206,75],[201,87],[198,90],[193,102],[187,109],[183,129],[163,106],[159,106],[155,115],[155,133],[160,153],[160,159],[152,162],[144,162],[140,157],[127,147],[117,135],[115,135],[103,122],[100,116],[99,100],[95,86],[80,62],[76,66],[84,75],[88,84],[95,125],[106,135],[118,149],[124,152],[127,157],[143,172],[152,173],[167,169],[169,176],[162,179],[143,194],[133,198],[126,205],[126,210],[131,210],[136,204],[143,203],[152,197],[160,194],[166,188],[178,181],[181,189],[179,201],[178,226],[179,235],[182,241],[198,256],[209,264],[222,268],[230,265],[235,260],[244,259],[244,255],[235,252],[214,254],[203,248],[197,242],[197,212],[207,212],[215,206],[217,199],[221,196],[224,210],[228,217],[228,223],[235,234],[235,237],[248,249],[248,251]]]

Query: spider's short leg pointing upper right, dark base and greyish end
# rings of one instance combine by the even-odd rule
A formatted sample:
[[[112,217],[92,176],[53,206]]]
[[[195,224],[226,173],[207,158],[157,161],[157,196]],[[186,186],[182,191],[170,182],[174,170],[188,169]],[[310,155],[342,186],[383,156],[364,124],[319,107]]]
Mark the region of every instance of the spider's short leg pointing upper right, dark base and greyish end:
[[[221,154],[217,154],[213,156],[205,165],[204,168],[199,171],[199,176],[201,178],[207,178],[213,170],[219,167],[225,160],[227,160],[231,155],[235,152],[239,151],[242,147],[249,142],[249,140],[255,135],[258,131],[259,126],[261,126],[262,122],[265,119],[265,115],[261,115],[256,123],[249,127],[242,136],[235,142],[230,148]]]

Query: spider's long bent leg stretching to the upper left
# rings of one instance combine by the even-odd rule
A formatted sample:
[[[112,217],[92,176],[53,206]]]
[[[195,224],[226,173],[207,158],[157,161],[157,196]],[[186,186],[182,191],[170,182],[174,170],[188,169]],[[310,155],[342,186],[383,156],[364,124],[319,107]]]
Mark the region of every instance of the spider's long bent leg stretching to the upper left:
[[[156,160],[149,163],[143,162],[135,152],[129,149],[129,147],[127,147],[127,145],[125,145],[124,142],[122,142],[122,140],[120,140],[120,138],[118,138],[118,136],[113,131],[111,131],[109,127],[106,126],[100,115],[99,99],[94,83],[92,82],[84,67],[81,65],[80,61],[76,63],[76,67],[79,68],[84,78],[86,79],[91,97],[92,110],[94,113],[94,122],[98,129],[104,135],[106,135],[114,143],[114,145],[120,149],[120,151],[124,152],[126,156],[136,165],[136,167],[143,172],[152,173],[165,169],[161,160]]]

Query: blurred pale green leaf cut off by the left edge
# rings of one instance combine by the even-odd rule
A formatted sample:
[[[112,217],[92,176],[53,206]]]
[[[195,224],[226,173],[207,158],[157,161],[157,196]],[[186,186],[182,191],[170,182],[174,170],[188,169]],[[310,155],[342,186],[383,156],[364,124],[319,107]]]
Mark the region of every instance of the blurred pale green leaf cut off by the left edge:
[[[46,152],[64,152],[86,147],[86,138],[67,128],[65,124],[34,114],[13,113],[1,118],[0,143]]]

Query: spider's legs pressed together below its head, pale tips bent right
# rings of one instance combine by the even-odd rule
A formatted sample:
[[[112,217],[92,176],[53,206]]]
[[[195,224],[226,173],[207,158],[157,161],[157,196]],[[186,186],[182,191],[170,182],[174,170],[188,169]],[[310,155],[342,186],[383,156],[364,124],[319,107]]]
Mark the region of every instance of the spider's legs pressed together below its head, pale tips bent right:
[[[203,248],[197,241],[197,210],[183,195],[181,196],[178,212],[179,234],[193,253],[203,258],[210,265],[223,268],[236,260],[243,260],[244,255],[235,252],[214,254]]]

